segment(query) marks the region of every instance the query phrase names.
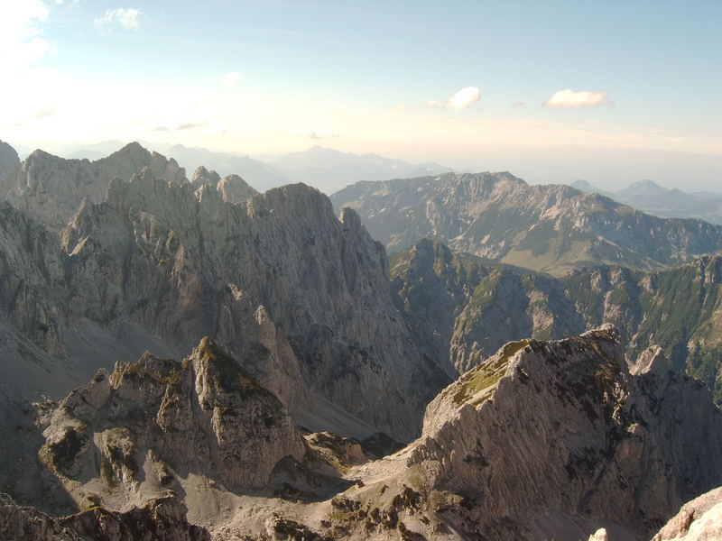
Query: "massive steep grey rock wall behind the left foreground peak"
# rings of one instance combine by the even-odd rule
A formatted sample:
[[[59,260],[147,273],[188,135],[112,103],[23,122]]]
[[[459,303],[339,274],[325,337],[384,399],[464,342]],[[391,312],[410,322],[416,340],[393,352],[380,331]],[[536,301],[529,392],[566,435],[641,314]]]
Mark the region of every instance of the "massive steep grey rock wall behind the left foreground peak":
[[[299,423],[362,438],[417,435],[421,409],[448,381],[393,306],[383,247],[315,189],[231,204],[146,168],[111,181],[106,202],[84,201],[60,252],[9,206],[5,224],[12,280],[0,299],[20,333],[67,359],[53,370],[76,363],[89,377],[146,349],[178,357],[209,335],[249,359]]]

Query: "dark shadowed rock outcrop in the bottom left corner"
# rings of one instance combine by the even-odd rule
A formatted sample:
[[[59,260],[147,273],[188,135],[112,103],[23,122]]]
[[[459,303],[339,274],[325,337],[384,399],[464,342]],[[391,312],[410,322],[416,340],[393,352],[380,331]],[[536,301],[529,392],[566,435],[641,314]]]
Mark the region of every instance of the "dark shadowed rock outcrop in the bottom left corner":
[[[0,494],[0,537],[6,541],[210,541],[202,527],[189,524],[175,498],[148,502],[124,513],[92,509],[63,518],[20,507]]]

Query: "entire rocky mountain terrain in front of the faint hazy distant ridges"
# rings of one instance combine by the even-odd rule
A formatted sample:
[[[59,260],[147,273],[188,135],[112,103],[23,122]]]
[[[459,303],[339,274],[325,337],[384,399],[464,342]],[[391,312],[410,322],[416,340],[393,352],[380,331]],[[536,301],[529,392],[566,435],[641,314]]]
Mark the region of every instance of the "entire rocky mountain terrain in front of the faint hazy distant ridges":
[[[138,143],[5,155],[0,537],[714,535],[722,227],[510,173],[337,215]]]

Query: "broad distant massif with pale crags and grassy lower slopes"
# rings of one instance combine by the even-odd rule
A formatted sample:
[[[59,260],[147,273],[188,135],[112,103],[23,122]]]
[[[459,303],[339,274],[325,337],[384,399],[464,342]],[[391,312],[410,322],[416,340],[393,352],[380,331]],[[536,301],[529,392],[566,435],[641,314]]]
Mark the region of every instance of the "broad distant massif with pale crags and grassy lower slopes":
[[[391,252],[422,237],[459,252],[561,275],[592,263],[655,269],[722,248],[722,226],[662,219],[562,185],[509,173],[358,182],[332,196]]]

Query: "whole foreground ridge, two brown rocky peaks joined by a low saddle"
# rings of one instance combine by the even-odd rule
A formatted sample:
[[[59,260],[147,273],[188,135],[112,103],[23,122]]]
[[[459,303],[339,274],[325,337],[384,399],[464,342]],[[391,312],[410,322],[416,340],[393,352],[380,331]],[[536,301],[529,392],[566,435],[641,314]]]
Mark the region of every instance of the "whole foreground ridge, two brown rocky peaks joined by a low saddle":
[[[148,518],[134,538],[149,540],[715,538],[691,536],[718,515],[698,500],[660,528],[722,486],[722,413],[658,349],[632,371],[623,352],[614,326],[505,344],[431,401],[419,439],[373,461],[349,438],[301,436],[208,339],[183,362],[145,354],[42,408],[42,467],[89,529],[4,500],[0,531],[125,539],[94,520],[135,513],[179,530],[154,536]]]

